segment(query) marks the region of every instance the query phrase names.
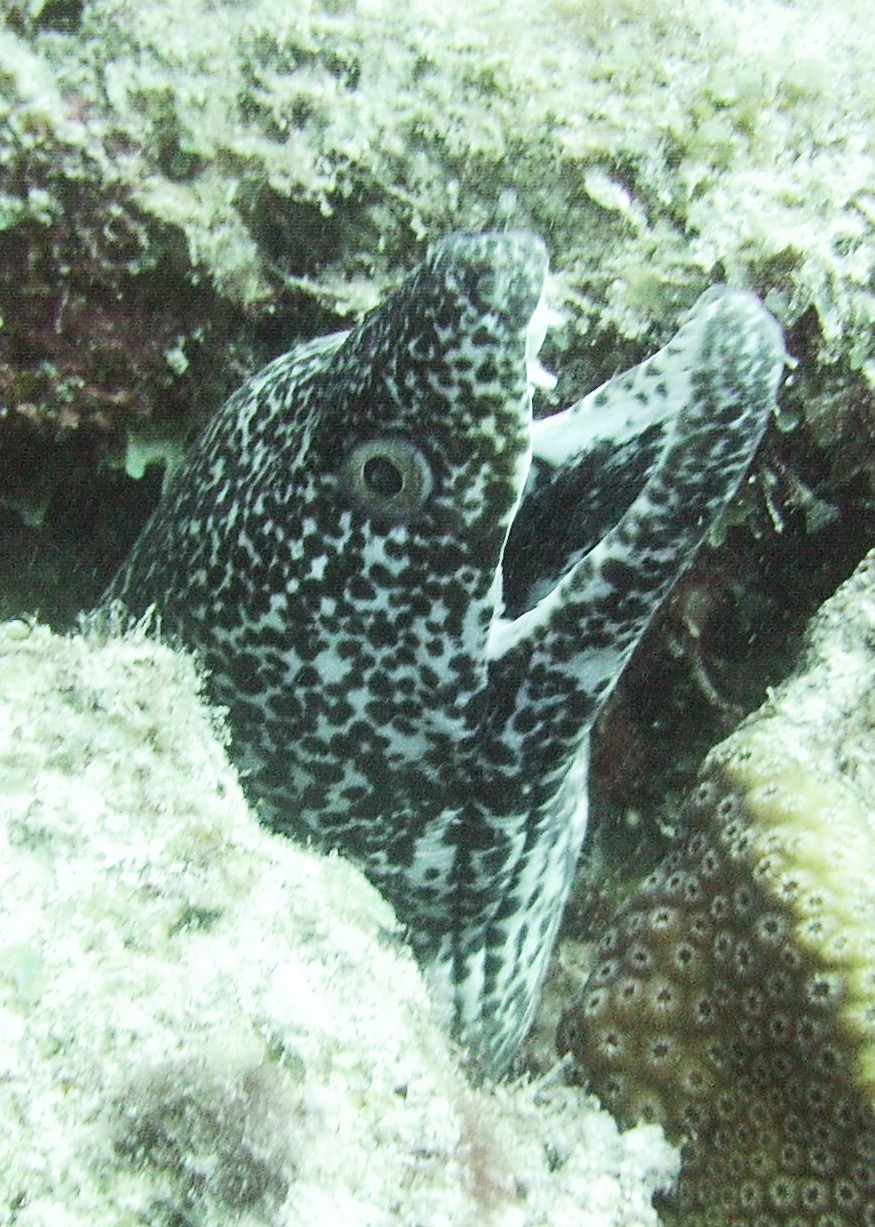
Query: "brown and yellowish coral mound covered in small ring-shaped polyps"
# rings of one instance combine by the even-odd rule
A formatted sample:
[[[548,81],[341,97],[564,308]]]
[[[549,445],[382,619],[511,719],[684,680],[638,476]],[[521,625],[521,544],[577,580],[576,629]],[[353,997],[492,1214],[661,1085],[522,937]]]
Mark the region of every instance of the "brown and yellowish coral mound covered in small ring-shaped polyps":
[[[875,1223],[873,644],[875,552],[708,756],[563,1017],[620,1121],[685,1139],[666,1223]]]

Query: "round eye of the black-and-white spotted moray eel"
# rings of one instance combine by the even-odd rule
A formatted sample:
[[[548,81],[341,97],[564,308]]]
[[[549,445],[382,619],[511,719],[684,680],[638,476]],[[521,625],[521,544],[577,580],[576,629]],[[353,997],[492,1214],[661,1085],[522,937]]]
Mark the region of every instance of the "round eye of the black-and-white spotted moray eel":
[[[344,461],[344,486],[369,515],[412,519],[432,492],[428,461],[407,439],[357,444]]]

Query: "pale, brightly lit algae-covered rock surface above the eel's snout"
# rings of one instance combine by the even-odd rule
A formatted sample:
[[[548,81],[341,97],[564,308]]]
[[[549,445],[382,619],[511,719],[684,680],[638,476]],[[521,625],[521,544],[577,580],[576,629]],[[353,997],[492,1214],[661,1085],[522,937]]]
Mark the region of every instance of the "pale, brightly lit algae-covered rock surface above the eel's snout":
[[[93,204],[120,191],[150,227],[133,258],[182,233],[231,302],[295,286],[361,312],[426,236],[507,221],[511,193],[579,328],[664,335],[725,277],[788,324],[811,312],[820,358],[875,379],[875,29],[850,0],[87,0],[72,31],[17,26],[7,199],[56,212],[65,168]]]

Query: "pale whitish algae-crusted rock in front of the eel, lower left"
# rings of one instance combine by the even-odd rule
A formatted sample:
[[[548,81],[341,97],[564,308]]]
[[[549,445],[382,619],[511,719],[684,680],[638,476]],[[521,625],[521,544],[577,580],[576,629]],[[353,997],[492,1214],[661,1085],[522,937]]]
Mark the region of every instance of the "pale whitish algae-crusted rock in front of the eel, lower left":
[[[198,687],[0,627],[0,1220],[655,1227],[661,1131],[472,1091],[389,907],[260,827]]]

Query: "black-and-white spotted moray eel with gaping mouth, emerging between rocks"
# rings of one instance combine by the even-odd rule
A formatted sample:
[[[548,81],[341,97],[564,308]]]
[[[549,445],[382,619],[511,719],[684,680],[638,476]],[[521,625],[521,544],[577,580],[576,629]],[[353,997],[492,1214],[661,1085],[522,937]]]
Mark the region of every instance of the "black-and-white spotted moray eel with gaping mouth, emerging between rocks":
[[[450,236],[352,331],[270,363],[107,594],[198,649],[263,818],[391,901],[481,1079],[531,1021],[593,723],[784,363],[757,299],[719,288],[533,423],[546,271],[530,234]]]

